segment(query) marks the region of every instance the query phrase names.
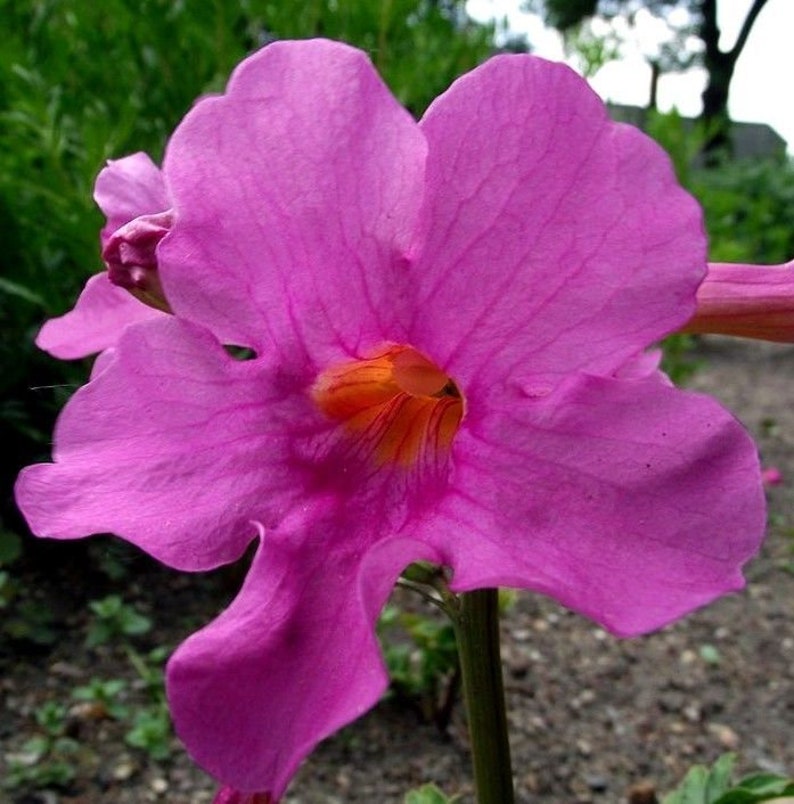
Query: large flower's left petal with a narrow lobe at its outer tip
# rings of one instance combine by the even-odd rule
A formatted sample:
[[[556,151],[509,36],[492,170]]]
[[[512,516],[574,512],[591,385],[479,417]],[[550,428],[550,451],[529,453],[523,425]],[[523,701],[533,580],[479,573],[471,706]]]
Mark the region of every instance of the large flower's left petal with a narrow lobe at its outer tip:
[[[302,388],[163,315],[70,399],[54,463],[22,472],[17,502],[40,536],[113,532],[179,569],[217,566],[301,495],[283,421],[306,427],[307,410]]]

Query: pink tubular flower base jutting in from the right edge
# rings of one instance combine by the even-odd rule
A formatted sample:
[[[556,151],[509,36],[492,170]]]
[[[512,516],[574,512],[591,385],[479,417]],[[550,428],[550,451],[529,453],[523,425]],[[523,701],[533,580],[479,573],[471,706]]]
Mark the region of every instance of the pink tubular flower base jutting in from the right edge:
[[[794,343],[794,262],[710,263],[684,331]]]

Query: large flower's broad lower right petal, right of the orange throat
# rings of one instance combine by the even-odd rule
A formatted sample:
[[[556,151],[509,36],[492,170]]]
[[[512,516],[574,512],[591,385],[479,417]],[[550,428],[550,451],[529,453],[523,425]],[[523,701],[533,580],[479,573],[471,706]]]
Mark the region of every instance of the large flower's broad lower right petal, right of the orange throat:
[[[456,447],[455,488],[425,530],[444,540],[456,590],[533,589],[640,634],[739,589],[763,537],[750,437],[655,379],[516,392]]]

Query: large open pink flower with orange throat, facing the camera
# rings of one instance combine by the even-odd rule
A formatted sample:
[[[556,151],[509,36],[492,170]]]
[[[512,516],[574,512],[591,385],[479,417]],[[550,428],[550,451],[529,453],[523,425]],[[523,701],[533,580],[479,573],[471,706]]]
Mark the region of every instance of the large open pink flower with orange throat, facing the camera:
[[[112,531],[186,570],[258,539],[168,668],[225,784],[278,799],[378,700],[373,626],[409,562],[621,635],[742,586],[755,447],[636,357],[693,314],[700,212],[567,67],[494,58],[417,124],[362,53],[279,42],[163,170],[174,315],[123,331],[17,498],[40,535]]]

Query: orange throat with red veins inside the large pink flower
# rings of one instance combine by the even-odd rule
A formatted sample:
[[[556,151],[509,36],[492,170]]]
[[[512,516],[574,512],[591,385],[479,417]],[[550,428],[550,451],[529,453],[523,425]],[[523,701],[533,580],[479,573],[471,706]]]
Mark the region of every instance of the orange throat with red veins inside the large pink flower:
[[[327,369],[312,397],[378,466],[409,467],[445,454],[463,418],[458,387],[410,346],[391,346],[368,360]]]

